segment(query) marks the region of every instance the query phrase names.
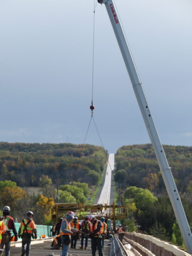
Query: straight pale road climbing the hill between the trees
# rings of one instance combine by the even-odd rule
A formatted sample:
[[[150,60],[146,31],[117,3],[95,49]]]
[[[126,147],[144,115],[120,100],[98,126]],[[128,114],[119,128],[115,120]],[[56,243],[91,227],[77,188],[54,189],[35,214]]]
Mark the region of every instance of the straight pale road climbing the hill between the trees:
[[[110,190],[111,190],[111,175],[115,165],[115,154],[109,154],[107,171],[105,176],[105,183],[103,185],[98,204],[109,204],[110,203]]]

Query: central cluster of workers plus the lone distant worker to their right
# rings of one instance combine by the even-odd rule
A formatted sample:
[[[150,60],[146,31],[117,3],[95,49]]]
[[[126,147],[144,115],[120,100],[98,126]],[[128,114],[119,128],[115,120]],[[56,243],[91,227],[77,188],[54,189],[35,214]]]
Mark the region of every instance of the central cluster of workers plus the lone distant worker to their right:
[[[115,231],[119,234],[120,241],[123,241],[124,229],[122,225],[119,225]],[[99,256],[103,256],[103,247],[107,238],[107,223],[105,223],[104,217],[98,220],[91,214],[79,224],[75,213],[70,211],[66,218],[60,218],[59,222],[53,225],[52,233],[56,235],[52,244],[53,249],[60,249],[62,246],[62,256],[68,256],[69,248],[76,249],[77,239],[81,239],[79,249],[87,250],[88,235],[91,237],[92,256],[96,255],[97,250]]]

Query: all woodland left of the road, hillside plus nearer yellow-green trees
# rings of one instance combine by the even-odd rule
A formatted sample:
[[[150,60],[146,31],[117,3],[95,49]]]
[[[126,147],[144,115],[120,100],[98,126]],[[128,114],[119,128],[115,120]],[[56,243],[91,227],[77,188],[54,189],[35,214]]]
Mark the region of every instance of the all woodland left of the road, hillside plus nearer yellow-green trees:
[[[60,203],[87,203],[105,164],[106,151],[93,145],[0,142],[0,209],[9,205],[18,222],[30,210],[38,225],[50,224],[58,196]],[[41,193],[29,194],[30,186]]]

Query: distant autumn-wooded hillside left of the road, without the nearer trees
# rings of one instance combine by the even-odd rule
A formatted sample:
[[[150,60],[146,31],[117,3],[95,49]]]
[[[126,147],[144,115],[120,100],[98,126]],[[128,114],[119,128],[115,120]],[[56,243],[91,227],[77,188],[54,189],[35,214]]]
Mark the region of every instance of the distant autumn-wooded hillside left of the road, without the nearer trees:
[[[55,184],[71,182],[76,170],[76,182],[97,185],[105,162],[106,152],[93,145],[0,142],[1,179],[19,187],[39,186],[42,175]]]

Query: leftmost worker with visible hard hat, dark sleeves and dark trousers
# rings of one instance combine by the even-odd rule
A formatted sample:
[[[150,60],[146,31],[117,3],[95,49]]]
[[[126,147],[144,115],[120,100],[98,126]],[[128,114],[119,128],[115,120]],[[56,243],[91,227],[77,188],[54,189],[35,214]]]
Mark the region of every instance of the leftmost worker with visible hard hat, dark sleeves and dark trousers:
[[[5,256],[9,256],[10,255],[10,247],[11,247],[11,230],[13,230],[13,234],[15,236],[14,241],[17,242],[18,241],[18,233],[17,230],[15,228],[15,223],[13,218],[10,216],[10,207],[9,206],[5,206],[3,208],[3,222],[5,224],[6,230],[10,230],[7,235],[7,238],[5,240],[5,242],[2,241],[1,246],[2,249],[5,245]]]

